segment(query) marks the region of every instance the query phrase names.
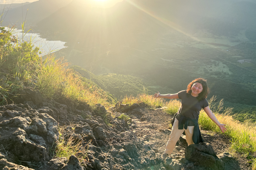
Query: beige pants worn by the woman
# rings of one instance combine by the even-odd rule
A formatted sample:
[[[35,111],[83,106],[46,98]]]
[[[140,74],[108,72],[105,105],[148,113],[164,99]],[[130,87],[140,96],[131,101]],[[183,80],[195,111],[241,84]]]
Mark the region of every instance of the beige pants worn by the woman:
[[[169,140],[167,141],[165,151],[164,151],[167,154],[172,154],[175,144],[179,140],[184,130],[186,133],[186,140],[188,142],[188,145],[194,144],[192,136],[193,136],[193,131],[195,126],[188,126],[187,129],[184,129],[184,128],[178,129],[178,124],[179,124],[179,121],[175,118],[175,121],[172,127],[172,132],[170,134]]]

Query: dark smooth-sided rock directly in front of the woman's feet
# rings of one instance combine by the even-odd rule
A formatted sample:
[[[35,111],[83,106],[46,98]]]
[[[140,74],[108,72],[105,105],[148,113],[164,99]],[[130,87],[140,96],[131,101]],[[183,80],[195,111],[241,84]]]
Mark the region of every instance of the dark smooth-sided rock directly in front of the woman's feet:
[[[191,144],[185,149],[185,158],[213,170],[224,170],[223,162],[208,143]]]

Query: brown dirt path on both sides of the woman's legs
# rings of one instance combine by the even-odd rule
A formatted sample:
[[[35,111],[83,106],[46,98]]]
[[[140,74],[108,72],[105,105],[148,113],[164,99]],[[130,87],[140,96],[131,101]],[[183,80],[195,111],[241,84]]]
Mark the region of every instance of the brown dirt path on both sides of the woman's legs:
[[[144,140],[152,148],[157,148],[158,152],[162,154],[171,133],[171,129],[168,128],[173,116],[165,113],[162,109],[150,110],[143,107],[133,109],[126,114],[132,118],[131,128],[138,138]],[[217,155],[231,152],[231,141],[226,135],[203,129],[201,129],[201,133],[204,142],[210,143]],[[171,158],[179,159],[181,157],[185,157],[185,147],[176,146]],[[245,158],[239,154],[233,154],[233,157],[235,160],[225,165],[226,170],[251,170],[250,163]]]

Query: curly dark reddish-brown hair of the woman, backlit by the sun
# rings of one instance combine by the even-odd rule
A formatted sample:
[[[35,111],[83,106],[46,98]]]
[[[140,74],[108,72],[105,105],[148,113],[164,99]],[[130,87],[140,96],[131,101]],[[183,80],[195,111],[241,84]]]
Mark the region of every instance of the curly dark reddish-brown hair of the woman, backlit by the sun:
[[[192,90],[191,90],[191,87],[193,86],[193,84],[195,83],[201,83],[202,86],[203,86],[203,90],[201,93],[199,93],[199,95],[196,97],[199,101],[201,100],[204,100],[207,98],[207,95],[208,93],[210,92],[208,86],[207,86],[207,81],[203,78],[197,78],[193,81],[191,81],[189,84],[188,84],[188,87],[187,87],[187,90],[186,90],[186,93],[187,94],[191,94]]]

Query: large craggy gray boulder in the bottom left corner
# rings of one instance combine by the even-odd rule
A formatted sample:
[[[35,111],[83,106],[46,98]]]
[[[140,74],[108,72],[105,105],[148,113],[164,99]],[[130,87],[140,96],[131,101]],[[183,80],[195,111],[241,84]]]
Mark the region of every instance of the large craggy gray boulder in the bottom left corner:
[[[0,111],[0,143],[8,150],[8,157],[13,155],[21,161],[49,160],[49,148],[59,137],[57,122],[28,105],[12,104],[5,108],[11,110]]]

